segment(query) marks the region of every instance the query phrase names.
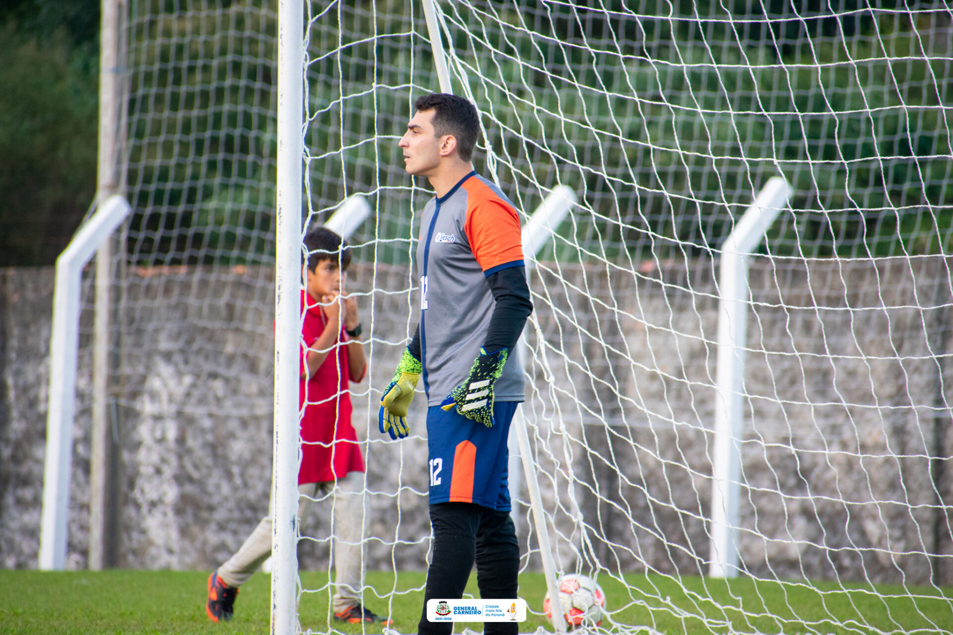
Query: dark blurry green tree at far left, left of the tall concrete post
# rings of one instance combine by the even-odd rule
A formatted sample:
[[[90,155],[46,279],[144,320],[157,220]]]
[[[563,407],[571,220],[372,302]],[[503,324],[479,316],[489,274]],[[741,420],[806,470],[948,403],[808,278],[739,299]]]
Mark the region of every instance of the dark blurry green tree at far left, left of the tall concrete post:
[[[90,50],[65,27],[23,33],[0,25],[0,267],[54,262],[92,202]]]

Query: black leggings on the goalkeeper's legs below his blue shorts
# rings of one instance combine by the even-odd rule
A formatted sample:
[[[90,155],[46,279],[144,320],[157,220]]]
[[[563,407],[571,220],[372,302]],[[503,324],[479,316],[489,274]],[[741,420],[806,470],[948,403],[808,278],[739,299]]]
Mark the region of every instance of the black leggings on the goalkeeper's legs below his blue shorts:
[[[476,585],[482,599],[517,598],[519,544],[509,512],[471,503],[438,503],[430,506],[430,521],[434,526],[434,549],[417,625],[419,635],[449,635],[453,631],[451,622],[427,620],[427,601],[463,597],[474,562]],[[488,622],[483,632],[517,635],[519,626],[510,622]]]

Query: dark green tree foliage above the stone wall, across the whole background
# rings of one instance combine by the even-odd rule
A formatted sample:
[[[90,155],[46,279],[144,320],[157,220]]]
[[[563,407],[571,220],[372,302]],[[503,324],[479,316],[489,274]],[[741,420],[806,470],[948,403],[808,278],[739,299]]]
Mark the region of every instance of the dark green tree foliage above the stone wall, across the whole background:
[[[953,249],[948,12],[894,0],[441,6],[507,193],[531,211],[567,183],[591,212],[563,228],[566,246],[713,254],[782,174],[799,211],[772,228],[773,253]],[[404,206],[414,194],[395,136],[413,97],[436,89],[422,11],[380,0],[314,3],[312,15],[310,209],[322,217],[355,191]],[[0,81],[13,87],[0,95],[0,240],[19,246],[2,262],[51,262],[55,241],[41,237],[71,232],[91,202],[98,2],[10,0],[0,23]],[[132,4],[133,259],[270,262],[276,31],[274,0]],[[404,216],[381,214],[376,237],[412,236]]]

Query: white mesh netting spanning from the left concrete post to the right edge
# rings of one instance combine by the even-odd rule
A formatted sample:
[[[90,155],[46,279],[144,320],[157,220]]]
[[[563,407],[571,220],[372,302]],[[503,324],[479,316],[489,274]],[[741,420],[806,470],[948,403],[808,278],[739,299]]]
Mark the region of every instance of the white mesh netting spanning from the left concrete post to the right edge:
[[[355,194],[372,210],[348,236],[369,571],[425,570],[430,546],[424,400],[400,443],[376,404],[418,319],[432,192],[396,143],[439,89],[438,37],[480,113],[477,171],[525,221],[554,189],[577,200],[525,254],[522,575],[551,557],[597,578],[609,630],[953,631],[948,6],[460,0],[436,3],[436,30],[416,1],[305,6],[304,222]],[[268,512],[272,479],[276,7],[130,11],[119,562],[209,567]],[[791,195],[740,254],[747,329],[726,342],[729,236],[772,177]],[[740,416],[718,429],[729,402]],[[331,500],[316,506],[298,528],[302,611],[334,590],[304,574],[334,565]],[[387,614],[421,588],[398,575],[362,593]],[[539,588],[523,630],[552,628]]]

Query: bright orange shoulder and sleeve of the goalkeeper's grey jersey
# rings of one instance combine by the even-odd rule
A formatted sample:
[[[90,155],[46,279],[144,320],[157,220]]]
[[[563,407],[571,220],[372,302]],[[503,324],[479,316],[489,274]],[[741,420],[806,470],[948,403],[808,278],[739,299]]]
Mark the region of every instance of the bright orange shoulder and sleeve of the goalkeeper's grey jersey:
[[[486,271],[522,260],[523,239],[517,210],[501,200],[492,189],[477,183],[478,186],[467,188],[467,220],[464,223],[476,262]]]

